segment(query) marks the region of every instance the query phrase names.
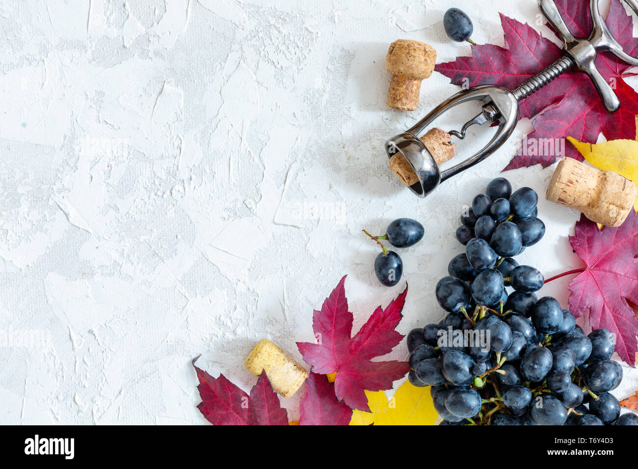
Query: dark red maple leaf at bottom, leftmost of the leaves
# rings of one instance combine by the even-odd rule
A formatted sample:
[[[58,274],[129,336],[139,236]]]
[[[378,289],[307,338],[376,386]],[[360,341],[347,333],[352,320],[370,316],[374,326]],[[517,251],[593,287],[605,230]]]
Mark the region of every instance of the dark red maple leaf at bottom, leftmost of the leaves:
[[[199,357],[198,357],[199,358]],[[288,425],[288,413],[279,405],[266,373],[257,380],[250,394],[228,381],[224,375],[213,378],[204,370],[197,372],[202,402],[197,408],[214,425]]]

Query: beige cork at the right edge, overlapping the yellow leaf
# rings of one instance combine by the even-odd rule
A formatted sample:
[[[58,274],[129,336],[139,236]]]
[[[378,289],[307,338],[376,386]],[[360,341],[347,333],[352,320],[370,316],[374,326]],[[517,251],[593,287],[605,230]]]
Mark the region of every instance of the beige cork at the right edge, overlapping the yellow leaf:
[[[556,167],[547,200],[581,211],[607,227],[623,224],[636,198],[634,182],[613,172],[589,167],[574,158],[563,158]]]

